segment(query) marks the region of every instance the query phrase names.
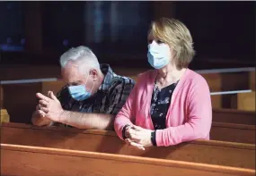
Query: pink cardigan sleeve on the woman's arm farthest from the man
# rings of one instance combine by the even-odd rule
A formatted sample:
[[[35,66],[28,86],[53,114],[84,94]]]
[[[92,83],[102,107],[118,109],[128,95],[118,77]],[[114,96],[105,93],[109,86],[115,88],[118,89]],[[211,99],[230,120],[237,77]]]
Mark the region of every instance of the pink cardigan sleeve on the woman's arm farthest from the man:
[[[189,93],[188,122],[181,126],[156,130],[157,146],[172,146],[198,138],[207,138],[212,122],[210,92],[206,80],[200,79]]]

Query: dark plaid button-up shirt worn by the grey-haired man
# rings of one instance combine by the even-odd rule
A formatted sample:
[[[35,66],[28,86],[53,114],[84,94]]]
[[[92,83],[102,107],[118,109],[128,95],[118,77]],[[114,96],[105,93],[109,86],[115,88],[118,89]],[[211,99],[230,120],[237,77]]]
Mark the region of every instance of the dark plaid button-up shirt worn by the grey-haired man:
[[[57,93],[63,109],[84,113],[119,113],[136,82],[115,74],[108,64],[101,64],[101,70],[105,75],[102,85],[88,99],[76,101],[70,96],[67,86]]]

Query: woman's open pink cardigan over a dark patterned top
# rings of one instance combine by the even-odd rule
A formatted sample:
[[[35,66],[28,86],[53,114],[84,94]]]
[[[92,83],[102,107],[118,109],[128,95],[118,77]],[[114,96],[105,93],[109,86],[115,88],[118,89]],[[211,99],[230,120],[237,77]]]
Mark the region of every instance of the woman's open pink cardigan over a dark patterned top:
[[[154,70],[139,75],[135,88],[114,122],[119,138],[123,139],[122,129],[126,124],[154,130],[150,105],[156,74]],[[211,122],[212,106],[207,81],[187,69],[173,91],[166,115],[166,129],[156,130],[156,145],[167,147],[197,138],[209,139]]]

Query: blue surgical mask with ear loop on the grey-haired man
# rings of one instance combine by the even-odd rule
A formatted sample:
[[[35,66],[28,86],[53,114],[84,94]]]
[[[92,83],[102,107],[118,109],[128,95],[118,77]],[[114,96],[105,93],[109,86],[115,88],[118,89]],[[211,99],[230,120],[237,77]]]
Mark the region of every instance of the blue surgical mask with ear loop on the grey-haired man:
[[[87,76],[87,80],[88,78],[89,78],[89,74]],[[68,90],[69,90],[70,96],[72,96],[77,101],[83,101],[89,98],[90,96],[92,96],[93,88],[91,89],[90,92],[86,90],[87,80],[85,82],[85,85],[69,86]],[[94,81],[93,81],[93,87],[94,87]]]

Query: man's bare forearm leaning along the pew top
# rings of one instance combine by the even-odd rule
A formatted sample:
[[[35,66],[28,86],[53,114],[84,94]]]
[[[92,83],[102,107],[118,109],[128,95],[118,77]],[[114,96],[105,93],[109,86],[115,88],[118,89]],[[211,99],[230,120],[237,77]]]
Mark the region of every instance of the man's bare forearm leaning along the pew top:
[[[114,115],[104,113],[78,113],[64,111],[59,121],[78,129],[111,130]]]

